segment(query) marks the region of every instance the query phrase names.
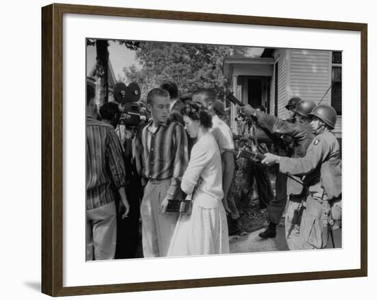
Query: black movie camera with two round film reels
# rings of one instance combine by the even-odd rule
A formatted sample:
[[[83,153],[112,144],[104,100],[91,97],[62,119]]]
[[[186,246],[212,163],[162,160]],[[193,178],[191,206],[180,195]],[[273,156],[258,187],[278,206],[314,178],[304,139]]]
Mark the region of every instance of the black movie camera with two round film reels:
[[[137,127],[147,121],[145,105],[138,102],[141,97],[140,86],[135,82],[128,86],[123,82],[114,85],[114,99],[119,103],[119,125],[126,127]]]

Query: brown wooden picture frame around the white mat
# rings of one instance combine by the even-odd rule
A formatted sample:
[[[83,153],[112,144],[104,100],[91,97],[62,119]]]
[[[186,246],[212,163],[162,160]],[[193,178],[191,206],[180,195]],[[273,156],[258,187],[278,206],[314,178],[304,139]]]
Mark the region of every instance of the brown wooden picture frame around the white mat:
[[[127,284],[63,286],[63,15],[337,29],[361,33],[361,268]],[[42,8],[42,292],[51,296],[197,288],[367,276],[367,24],[51,4]]]

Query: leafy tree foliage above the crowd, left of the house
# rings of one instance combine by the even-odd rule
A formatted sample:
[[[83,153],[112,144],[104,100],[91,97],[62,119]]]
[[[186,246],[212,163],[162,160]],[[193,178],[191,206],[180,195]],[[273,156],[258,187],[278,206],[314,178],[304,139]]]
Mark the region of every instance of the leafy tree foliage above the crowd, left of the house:
[[[137,82],[143,99],[151,88],[167,80],[178,84],[180,96],[191,95],[197,88],[215,88],[221,97],[229,88],[223,58],[232,53],[230,46],[140,42],[136,59],[141,68],[123,68],[124,81]]]

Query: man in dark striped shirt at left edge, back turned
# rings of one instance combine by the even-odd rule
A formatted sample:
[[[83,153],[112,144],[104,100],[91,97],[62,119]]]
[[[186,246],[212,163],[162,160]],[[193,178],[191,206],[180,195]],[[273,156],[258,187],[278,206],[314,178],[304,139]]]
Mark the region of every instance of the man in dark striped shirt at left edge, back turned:
[[[114,127],[97,121],[95,88],[86,87],[86,260],[114,258],[117,218],[114,200],[121,197],[125,218],[130,210],[125,196],[125,166]],[[114,190],[117,188],[117,190]]]

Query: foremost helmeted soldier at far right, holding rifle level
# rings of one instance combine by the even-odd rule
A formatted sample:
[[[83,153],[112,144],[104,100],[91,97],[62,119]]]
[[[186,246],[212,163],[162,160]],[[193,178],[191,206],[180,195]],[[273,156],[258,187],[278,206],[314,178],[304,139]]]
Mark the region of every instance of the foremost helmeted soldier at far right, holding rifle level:
[[[310,114],[315,138],[303,158],[287,158],[266,153],[263,164],[279,164],[280,172],[305,175],[306,209],[302,214],[300,240],[304,249],[326,247],[332,211],[341,199],[341,160],[339,142],[330,131],[337,113],[328,105],[318,105]]]

